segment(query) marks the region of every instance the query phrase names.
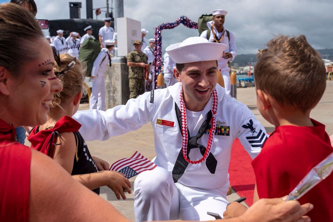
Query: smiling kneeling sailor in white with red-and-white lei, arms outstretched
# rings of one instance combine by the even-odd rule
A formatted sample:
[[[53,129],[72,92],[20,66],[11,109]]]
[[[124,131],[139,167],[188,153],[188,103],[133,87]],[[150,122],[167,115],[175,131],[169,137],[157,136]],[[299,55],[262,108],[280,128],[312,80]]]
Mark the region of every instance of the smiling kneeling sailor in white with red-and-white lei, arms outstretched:
[[[86,140],[107,140],[151,122],[158,167],[135,180],[136,221],[213,219],[207,211],[222,216],[233,141],[238,138],[253,159],[267,139],[247,106],[216,83],[216,60],[225,47],[202,37],[171,45],[166,51],[177,63],[178,83],[105,112],[74,115]]]

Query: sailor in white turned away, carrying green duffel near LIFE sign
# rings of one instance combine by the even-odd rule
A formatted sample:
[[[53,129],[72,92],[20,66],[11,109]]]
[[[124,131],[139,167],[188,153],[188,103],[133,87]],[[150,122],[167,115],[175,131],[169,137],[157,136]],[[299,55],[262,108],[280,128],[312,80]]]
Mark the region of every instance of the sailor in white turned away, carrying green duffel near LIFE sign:
[[[113,50],[115,41],[112,39],[105,40],[106,47],[101,49],[94,61],[91,70],[91,81],[93,82],[90,95],[89,108],[105,110],[105,80],[104,75],[107,66],[111,66],[110,52]],[[96,104],[97,103],[97,104]]]

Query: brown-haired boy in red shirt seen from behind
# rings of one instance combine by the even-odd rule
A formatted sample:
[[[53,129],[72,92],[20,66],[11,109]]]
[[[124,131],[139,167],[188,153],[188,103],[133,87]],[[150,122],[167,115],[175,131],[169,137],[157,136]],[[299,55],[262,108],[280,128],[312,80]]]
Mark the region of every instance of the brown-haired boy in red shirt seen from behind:
[[[256,176],[254,202],[288,195],[312,167],[333,152],[325,126],[310,118],[310,111],[326,87],[320,54],[304,35],[279,35],[257,57],[257,106],[276,128],[252,161]],[[333,221],[333,176],[312,188],[299,202],[314,205],[307,214],[311,221]],[[233,204],[225,215],[232,217],[245,210]]]

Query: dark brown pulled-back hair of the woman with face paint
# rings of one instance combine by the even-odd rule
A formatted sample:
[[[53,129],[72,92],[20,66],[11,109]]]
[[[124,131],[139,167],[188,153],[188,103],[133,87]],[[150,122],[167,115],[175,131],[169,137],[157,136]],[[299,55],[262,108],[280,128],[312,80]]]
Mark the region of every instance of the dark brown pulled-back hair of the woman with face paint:
[[[35,47],[40,38],[44,39],[42,30],[28,10],[13,3],[0,4],[0,66],[19,76],[24,65],[38,58]]]

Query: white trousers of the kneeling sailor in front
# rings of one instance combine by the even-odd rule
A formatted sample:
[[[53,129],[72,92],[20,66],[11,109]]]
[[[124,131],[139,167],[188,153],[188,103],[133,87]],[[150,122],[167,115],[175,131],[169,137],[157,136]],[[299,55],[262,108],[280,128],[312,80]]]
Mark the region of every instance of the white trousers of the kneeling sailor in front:
[[[195,179],[195,178],[193,178]],[[199,179],[199,178],[196,178]],[[209,181],[207,181],[209,183]],[[207,211],[223,212],[228,186],[199,189],[174,183],[162,167],[140,173],[134,182],[134,213],[137,222],[159,220],[214,220]]]

